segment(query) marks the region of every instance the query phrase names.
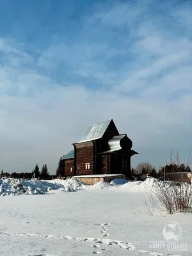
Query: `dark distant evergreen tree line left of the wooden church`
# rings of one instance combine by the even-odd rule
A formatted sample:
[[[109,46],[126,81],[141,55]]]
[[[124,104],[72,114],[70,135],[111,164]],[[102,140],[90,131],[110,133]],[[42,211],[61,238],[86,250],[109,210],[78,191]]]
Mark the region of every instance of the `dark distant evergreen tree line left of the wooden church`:
[[[35,169],[31,172],[8,173],[1,170],[0,173],[0,177],[12,177],[15,179],[31,179],[33,176],[35,176],[35,179],[51,179],[53,175],[50,175],[47,164],[43,164],[41,170],[38,167],[38,164],[36,164]]]

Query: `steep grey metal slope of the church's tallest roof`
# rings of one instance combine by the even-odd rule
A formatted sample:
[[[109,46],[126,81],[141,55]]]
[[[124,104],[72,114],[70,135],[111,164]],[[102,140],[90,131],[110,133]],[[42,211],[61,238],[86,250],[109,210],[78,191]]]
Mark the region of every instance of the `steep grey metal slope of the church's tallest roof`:
[[[87,131],[78,143],[92,141],[102,138],[106,129],[108,129],[111,120],[101,122],[99,124],[92,124],[88,127]]]

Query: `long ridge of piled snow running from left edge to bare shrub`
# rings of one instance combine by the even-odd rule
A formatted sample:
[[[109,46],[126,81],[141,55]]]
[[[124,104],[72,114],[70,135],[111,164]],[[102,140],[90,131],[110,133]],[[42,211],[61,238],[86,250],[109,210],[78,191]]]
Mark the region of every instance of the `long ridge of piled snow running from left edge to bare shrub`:
[[[86,185],[83,182],[72,178],[68,180],[15,180],[0,179],[0,195],[40,195],[51,190],[70,192],[84,189],[122,189],[130,192],[150,191],[155,186],[162,186],[162,182],[148,177],[145,181],[127,181],[125,179],[113,179],[110,183],[100,181],[95,185]]]

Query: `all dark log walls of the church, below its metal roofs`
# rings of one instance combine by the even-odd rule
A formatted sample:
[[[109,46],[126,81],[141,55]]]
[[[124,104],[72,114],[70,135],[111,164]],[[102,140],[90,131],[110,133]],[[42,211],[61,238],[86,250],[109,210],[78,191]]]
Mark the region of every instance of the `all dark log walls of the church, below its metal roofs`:
[[[87,142],[86,145],[85,143],[79,143],[75,148],[76,161],[74,159],[66,159],[64,161],[65,176],[111,173],[124,174],[125,177],[129,177],[131,174],[131,156],[129,152],[117,151],[114,153],[95,154],[93,142]],[[86,164],[90,164],[87,169]]]

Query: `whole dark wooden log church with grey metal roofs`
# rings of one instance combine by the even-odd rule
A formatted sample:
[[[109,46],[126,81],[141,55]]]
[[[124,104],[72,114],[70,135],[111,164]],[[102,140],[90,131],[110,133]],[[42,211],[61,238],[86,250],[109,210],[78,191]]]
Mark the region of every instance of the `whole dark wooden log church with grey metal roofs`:
[[[127,134],[119,134],[113,119],[88,127],[74,149],[63,160],[64,177],[75,175],[99,175],[105,173],[131,176],[132,150]]]

